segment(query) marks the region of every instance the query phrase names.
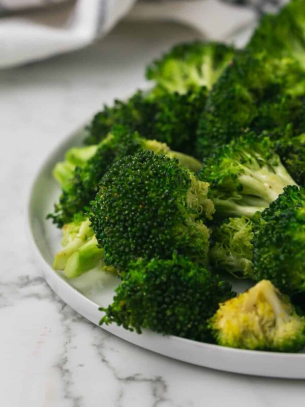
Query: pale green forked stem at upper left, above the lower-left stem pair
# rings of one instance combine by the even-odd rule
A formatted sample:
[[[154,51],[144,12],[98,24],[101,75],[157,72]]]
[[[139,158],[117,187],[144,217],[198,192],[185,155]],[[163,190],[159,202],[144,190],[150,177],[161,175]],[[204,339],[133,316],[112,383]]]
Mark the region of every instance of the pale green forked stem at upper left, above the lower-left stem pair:
[[[65,190],[69,187],[76,166],[83,167],[95,155],[98,146],[73,147],[65,155],[65,161],[57,162],[52,174]]]

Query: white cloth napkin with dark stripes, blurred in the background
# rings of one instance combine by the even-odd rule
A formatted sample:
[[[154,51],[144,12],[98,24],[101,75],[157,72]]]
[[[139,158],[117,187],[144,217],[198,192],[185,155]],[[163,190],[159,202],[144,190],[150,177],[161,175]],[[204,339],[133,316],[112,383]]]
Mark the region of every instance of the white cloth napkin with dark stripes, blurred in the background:
[[[0,0],[0,68],[82,48],[122,17],[177,20],[206,38],[246,41],[258,14],[285,0]],[[235,5],[242,3],[243,5]],[[241,44],[242,45],[242,44]]]

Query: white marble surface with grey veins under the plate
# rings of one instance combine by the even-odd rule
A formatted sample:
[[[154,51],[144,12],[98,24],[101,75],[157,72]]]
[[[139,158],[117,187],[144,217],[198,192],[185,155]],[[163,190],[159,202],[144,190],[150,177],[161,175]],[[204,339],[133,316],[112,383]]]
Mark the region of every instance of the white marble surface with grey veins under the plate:
[[[305,381],[213,371],[142,350],[87,322],[45,283],[24,232],[38,166],[101,103],[145,85],[178,25],[121,24],[86,50],[0,72],[0,406],[301,407]]]

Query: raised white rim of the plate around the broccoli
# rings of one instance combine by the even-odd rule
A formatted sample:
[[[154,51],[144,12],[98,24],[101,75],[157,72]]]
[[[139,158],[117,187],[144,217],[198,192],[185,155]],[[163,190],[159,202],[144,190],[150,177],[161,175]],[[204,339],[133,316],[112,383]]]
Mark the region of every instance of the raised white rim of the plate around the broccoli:
[[[84,316],[90,322],[99,326],[99,320],[101,316],[100,311],[98,310],[99,305],[87,298],[83,293],[79,292],[75,287],[70,285],[62,276],[60,276],[50,265],[48,264],[46,258],[41,252],[35,237],[34,230],[34,219],[32,214],[32,206],[34,205],[34,195],[36,185],[39,182],[39,179],[42,173],[45,172],[46,168],[50,165],[50,162],[55,156],[62,155],[63,151],[66,151],[70,147],[70,144],[73,143],[73,140],[77,137],[80,137],[80,133],[84,132],[87,123],[77,130],[73,131],[68,137],[64,137],[50,152],[44,157],[42,162],[37,168],[34,176],[32,177],[31,182],[29,183],[30,187],[28,190],[28,195],[26,199],[26,218],[25,218],[25,228],[26,235],[28,237],[28,242],[31,243],[31,251],[35,254],[35,258],[39,259],[40,265],[43,269],[43,275],[49,286],[52,290],[71,308],[76,312]],[[71,144],[72,146],[72,144]],[[47,221],[45,219],[45,221]],[[55,226],[54,226],[55,227]],[[80,304],[79,304],[80,302]],[[80,306],[79,306],[80,305]],[[84,307],[84,308],[82,308]],[[82,309],[81,309],[82,308]],[[305,354],[304,353],[278,353],[278,352],[267,352],[267,351],[252,351],[252,350],[243,350],[237,348],[230,348],[225,346],[220,346],[217,344],[198,342],[192,339],[180,338],[173,335],[162,335],[149,330],[143,330],[141,335],[134,332],[125,330],[123,327],[118,327],[114,324],[101,327],[102,329],[120,337],[121,339],[127,340],[130,343],[133,343],[137,346],[145,348],[149,351],[167,356],[176,360],[188,362],[195,364],[197,366],[208,367],[212,369],[248,374],[248,375],[258,375],[265,377],[281,377],[285,379],[305,379]],[[162,345],[165,345],[162,348]],[[161,348],[159,347],[161,346]],[[173,347],[175,350],[180,352],[170,352],[170,347]],[[208,355],[209,357],[219,357],[219,359],[225,360],[225,365],[215,361],[211,363],[208,360],[202,361],[202,358],[194,358],[190,356],[190,351],[193,349],[200,350],[203,355]],[[181,351],[188,351],[187,355],[181,353]],[[243,360],[243,363],[237,363],[238,358]],[[266,362],[266,359],[269,359]],[[237,365],[232,364],[233,362]],[[247,364],[255,362],[251,367],[252,369],[247,368]],[[260,363],[265,363],[263,369]],[[270,363],[276,362],[274,368],[270,367]],[[284,372],[280,371],[278,362],[281,362],[284,366]],[[296,371],[289,368],[289,362],[295,364],[298,363],[298,368]],[[246,366],[246,368],[245,368]],[[276,367],[277,366],[277,367]]]

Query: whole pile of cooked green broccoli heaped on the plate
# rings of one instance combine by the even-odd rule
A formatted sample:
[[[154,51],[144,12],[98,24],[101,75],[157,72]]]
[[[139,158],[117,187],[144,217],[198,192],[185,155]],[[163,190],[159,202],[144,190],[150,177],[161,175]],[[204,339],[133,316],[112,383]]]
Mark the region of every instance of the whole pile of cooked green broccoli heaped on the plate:
[[[305,0],[245,49],[179,44],[55,165],[54,268],[117,276],[101,324],[249,350],[305,345]],[[236,295],[234,279],[247,279]]]

